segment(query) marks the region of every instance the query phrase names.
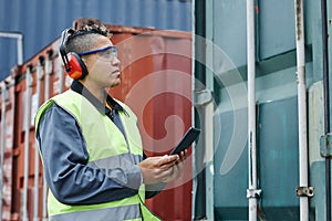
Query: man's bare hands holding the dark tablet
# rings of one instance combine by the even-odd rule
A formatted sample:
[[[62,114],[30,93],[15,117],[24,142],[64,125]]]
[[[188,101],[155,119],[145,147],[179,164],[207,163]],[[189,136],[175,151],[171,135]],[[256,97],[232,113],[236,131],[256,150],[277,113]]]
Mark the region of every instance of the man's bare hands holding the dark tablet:
[[[138,164],[143,182],[153,185],[158,182],[169,182],[177,179],[183,171],[183,161],[187,158],[187,151],[180,155],[163,157],[148,157]]]

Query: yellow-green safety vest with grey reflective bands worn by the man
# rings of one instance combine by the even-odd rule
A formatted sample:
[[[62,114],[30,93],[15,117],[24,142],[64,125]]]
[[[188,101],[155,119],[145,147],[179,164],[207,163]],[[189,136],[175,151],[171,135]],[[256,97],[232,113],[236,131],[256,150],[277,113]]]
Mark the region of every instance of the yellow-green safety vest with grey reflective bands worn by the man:
[[[118,102],[118,101],[117,101]],[[98,168],[137,165],[143,156],[142,139],[135,114],[118,102],[126,113],[120,113],[127,140],[106,115],[101,114],[84,96],[69,90],[41,106],[35,116],[35,131],[43,113],[53,104],[69,112],[82,129],[89,152],[89,166]],[[48,196],[49,219],[59,221],[159,220],[144,204],[144,187],[139,194],[97,204],[70,206]]]

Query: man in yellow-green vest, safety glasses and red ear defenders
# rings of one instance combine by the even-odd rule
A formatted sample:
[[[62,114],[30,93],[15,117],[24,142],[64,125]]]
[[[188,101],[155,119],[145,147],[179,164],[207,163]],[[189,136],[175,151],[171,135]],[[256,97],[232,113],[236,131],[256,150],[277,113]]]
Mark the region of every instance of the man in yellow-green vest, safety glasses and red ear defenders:
[[[104,27],[63,32],[60,53],[74,81],[35,117],[51,221],[158,220],[144,188],[181,173],[187,152],[144,159],[136,116],[106,93],[121,83],[116,50]]]

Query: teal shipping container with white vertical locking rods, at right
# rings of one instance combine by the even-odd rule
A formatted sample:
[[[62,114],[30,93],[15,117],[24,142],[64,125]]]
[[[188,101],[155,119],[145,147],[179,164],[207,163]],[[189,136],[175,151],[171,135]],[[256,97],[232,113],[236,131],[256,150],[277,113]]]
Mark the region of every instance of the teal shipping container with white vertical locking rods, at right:
[[[215,102],[194,219],[331,220],[331,1],[194,4],[195,77]]]

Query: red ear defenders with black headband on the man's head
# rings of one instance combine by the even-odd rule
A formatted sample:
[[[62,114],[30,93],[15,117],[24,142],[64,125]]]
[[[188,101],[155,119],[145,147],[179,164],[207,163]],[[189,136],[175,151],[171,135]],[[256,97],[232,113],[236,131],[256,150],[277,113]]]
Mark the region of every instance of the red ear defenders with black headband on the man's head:
[[[63,61],[64,70],[70,77],[73,80],[83,80],[87,75],[87,69],[80,57],[80,55],[75,52],[66,53],[65,45],[68,42],[68,38],[74,34],[73,29],[65,29],[61,34],[61,43],[60,43],[60,54]]]

